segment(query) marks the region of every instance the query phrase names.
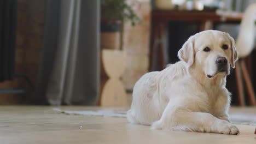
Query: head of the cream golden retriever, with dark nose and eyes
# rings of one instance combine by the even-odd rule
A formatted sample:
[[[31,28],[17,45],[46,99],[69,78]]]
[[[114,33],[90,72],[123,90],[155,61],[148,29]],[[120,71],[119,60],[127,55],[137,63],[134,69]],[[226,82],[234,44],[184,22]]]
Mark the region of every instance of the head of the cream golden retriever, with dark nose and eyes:
[[[188,67],[200,67],[211,79],[228,75],[230,65],[235,68],[238,54],[235,41],[228,33],[208,30],[191,36],[179,50],[178,57]]]

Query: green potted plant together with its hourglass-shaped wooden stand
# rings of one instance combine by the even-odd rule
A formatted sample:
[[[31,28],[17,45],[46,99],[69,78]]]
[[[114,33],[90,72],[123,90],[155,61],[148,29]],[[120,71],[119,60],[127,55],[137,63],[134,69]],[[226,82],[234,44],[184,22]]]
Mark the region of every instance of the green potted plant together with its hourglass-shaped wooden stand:
[[[138,16],[125,0],[101,0],[101,94],[100,105],[127,104],[120,79],[126,64],[126,52],[120,50],[123,21],[135,26]]]

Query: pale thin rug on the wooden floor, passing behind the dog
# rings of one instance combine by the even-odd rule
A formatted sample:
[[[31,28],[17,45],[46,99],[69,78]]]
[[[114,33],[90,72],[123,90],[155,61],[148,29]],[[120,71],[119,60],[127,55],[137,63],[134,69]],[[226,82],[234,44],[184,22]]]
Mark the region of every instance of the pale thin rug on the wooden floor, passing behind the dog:
[[[126,117],[126,111],[67,111],[54,108],[54,113],[65,113],[67,115],[90,115],[106,117]],[[230,121],[234,124],[256,125],[255,113],[230,113]]]

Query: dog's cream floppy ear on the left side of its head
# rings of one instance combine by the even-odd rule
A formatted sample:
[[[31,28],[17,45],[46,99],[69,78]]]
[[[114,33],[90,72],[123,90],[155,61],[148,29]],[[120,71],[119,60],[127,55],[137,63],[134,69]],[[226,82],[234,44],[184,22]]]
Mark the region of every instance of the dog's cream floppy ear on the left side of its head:
[[[186,62],[189,67],[194,63],[195,59],[194,39],[194,36],[191,36],[178,52],[179,59]]]

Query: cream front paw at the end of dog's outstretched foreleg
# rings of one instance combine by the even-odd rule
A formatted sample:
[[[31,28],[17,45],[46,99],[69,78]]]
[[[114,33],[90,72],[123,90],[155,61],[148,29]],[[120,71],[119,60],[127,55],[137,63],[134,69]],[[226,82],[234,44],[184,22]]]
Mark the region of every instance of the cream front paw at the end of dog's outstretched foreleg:
[[[222,124],[219,125],[219,133],[237,135],[239,134],[239,130],[236,128],[235,125],[232,125],[229,122],[223,121]]]

